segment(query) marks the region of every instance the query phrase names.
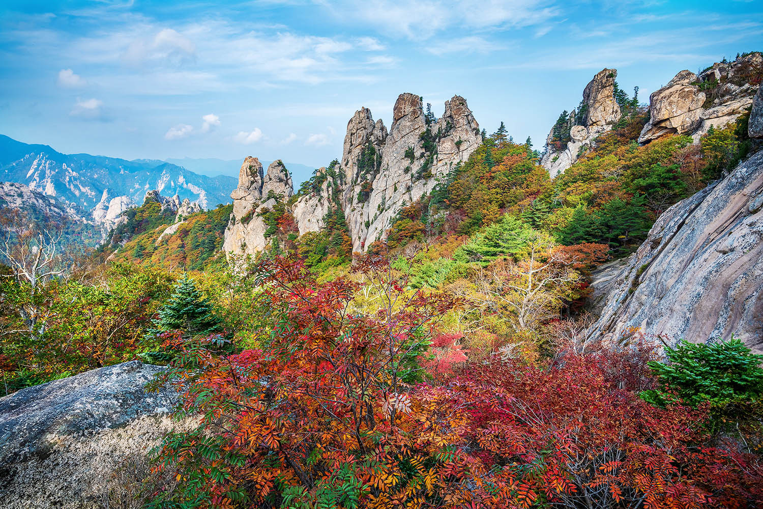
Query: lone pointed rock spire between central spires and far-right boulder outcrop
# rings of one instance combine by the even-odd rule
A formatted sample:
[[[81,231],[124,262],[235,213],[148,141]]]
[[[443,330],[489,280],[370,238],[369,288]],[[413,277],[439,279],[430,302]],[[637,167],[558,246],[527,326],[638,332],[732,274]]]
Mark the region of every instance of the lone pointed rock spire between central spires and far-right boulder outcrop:
[[[617,69],[601,69],[583,90],[583,100],[578,108],[572,108],[565,125],[569,128],[569,141],[565,147],[556,150],[553,143],[555,127],[546,137],[546,153],[541,166],[549,170],[553,178],[572,166],[584,147],[591,147],[595,138],[612,129],[620,120],[620,106],[615,101],[615,79]],[[577,124],[576,121],[581,121]],[[566,129],[565,129],[566,130]]]

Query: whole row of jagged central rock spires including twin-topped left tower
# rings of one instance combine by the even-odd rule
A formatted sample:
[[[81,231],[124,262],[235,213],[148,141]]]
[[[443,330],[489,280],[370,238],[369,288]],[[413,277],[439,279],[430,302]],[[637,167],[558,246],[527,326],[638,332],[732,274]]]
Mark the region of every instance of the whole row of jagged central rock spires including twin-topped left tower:
[[[365,250],[373,241],[386,237],[401,208],[445,182],[449,172],[465,162],[481,142],[479,124],[459,95],[446,101],[441,118],[434,118],[424,114],[420,96],[401,94],[389,130],[381,119],[374,121],[368,108],[361,108],[347,123],[336,175],[299,195],[296,201],[288,200],[293,195],[291,179],[280,161],[262,176],[259,160],[246,158],[238,188],[231,194],[233,214],[224,250],[262,250],[267,244],[268,225],[261,216],[278,203],[291,211],[300,234],[320,230],[330,208],[341,208],[353,250]],[[326,171],[318,170],[317,176]],[[270,198],[267,182],[272,182],[275,191]]]

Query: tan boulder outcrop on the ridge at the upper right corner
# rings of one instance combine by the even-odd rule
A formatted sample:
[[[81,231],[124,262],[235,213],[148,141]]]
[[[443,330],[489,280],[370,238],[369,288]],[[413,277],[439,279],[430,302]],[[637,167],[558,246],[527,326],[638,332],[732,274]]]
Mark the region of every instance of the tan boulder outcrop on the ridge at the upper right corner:
[[[714,63],[699,76],[687,70],[678,72],[668,85],[649,96],[649,122],[639,143],[665,134],[686,134],[698,140],[711,126],[736,121],[752,105],[761,77],[761,53]]]

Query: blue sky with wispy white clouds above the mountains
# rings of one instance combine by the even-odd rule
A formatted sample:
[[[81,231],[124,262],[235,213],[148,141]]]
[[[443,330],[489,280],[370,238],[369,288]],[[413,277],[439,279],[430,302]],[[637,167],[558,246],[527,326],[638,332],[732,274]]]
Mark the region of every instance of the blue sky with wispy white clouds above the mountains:
[[[341,156],[361,106],[463,95],[536,146],[604,67],[649,92],[763,50],[763,2],[34,2],[0,6],[0,134],[134,158]]]

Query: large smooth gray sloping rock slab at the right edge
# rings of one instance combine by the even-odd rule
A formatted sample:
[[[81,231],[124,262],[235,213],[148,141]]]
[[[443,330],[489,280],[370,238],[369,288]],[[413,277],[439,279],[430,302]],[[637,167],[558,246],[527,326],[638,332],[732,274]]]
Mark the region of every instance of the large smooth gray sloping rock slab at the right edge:
[[[609,279],[591,336],[616,341],[631,327],[674,342],[733,335],[763,353],[763,151],[665,211]]]

